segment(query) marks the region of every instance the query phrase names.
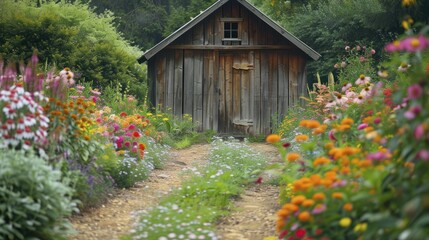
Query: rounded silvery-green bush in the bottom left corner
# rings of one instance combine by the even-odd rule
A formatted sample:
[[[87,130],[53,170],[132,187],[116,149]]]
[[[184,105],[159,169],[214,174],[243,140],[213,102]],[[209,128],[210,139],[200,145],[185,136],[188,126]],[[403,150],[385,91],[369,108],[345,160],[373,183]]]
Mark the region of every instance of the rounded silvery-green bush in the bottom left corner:
[[[61,171],[32,153],[0,152],[0,238],[66,239],[76,211]]]

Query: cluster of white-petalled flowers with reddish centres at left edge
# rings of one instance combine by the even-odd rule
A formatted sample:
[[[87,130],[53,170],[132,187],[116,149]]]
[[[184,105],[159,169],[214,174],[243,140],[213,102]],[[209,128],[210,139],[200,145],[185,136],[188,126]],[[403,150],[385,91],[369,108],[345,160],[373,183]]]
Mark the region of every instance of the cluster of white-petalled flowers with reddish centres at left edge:
[[[48,101],[41,93],[26,92],[20,85],[0,92],[0,148],[29,149],[34,143],[45,142],[49,119],[35,100]]]

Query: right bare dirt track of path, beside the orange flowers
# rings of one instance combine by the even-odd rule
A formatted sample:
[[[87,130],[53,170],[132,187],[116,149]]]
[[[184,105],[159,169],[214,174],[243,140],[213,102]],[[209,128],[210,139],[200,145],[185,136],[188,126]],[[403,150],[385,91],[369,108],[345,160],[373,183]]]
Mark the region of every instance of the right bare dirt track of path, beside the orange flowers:
[[[260,153],[265,154],[270,162],[279,162],[278,151],[268,144],[251,144]],[[269,176],[263,174],[267,181]],[[276,235],[276,212],[280,208],[279,189],[268,184],[254,184],[241,194],[235,202],[235,211],[221,219],[217,234],[223,240],[262,240]]]

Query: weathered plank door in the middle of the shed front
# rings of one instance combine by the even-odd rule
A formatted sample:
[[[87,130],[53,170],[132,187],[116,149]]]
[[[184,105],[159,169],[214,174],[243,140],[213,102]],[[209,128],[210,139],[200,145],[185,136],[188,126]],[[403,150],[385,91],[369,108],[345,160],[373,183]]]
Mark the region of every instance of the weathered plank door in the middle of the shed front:
[[[252,52],[219,54],[219,132],[246,134],[253,128]]]

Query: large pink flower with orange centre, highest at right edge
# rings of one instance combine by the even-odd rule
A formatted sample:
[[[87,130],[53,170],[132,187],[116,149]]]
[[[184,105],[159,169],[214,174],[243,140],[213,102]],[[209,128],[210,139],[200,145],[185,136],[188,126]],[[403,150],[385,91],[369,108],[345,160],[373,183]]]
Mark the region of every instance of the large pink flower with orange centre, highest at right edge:
[[[386,45],[387,52],[420,52],[429,47],[429,39],[423,35],[407,37]]]

